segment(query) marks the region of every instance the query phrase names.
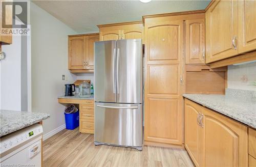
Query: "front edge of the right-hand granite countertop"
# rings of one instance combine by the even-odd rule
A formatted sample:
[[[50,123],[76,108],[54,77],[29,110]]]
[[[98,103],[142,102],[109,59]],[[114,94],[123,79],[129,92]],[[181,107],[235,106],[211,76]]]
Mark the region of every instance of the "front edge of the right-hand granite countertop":
[[[235,121],[238,121],[238,122],[240,122],[240,123],[242,123],[242,124],[244,124],[244,125],[246,125],[246,126],[248,126],[248,127],[250,127],[250,128],[256,129],[256,126],[252,125],[250,122],[246,122],[245,120],[240,119],[239,117],[236,117],[236,116],[234,116],[234,115],[230,115],[230,114],[226,113],[226,112],[223,111],[223,110],[220,110],[220,109],[215,108],[215,107],[212,107],[212,106],[210,106],[210,105],[208,105],[208,104],[202,103],[202,102],[200,102],[199,100],[194,99],[193,97],[189,97],[189,96],[186,96],[186,95],[183,95],[183,97],[184,97],[184,98],[187,98],[187,99],[189,99],[189,100],[191,100],[191,101],[194,101],[194,102],[196,102],[196,103],[198,103],[198,104],[201,104],[201,105],[203,105],[204,107],[207,107],[207,108],[209,108],[209,109],[211,109],[211,110],[214,110],[215,112],[217,112],[217,113],[219,113],[219,114],[222,114],[222,115],[224,115],[224,116],[226,116],[226,117],[228,117],[228,118],[230,118],[230,119],[233,119],[233,120],[235,120]]]

